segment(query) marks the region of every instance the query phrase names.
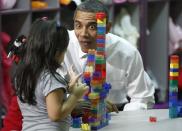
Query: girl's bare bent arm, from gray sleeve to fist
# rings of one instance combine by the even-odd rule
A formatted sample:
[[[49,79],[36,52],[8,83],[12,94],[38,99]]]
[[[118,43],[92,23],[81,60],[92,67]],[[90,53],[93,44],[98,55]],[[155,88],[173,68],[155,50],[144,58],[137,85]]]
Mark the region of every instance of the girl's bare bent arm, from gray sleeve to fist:
[[[83,96],[88,87],[85,84],[77,83],[72,89],[67,101],[63,102],[64,90],[57,89],[46,96],[47,112],[52,121],[59,121],[71,114],[77,101]]]

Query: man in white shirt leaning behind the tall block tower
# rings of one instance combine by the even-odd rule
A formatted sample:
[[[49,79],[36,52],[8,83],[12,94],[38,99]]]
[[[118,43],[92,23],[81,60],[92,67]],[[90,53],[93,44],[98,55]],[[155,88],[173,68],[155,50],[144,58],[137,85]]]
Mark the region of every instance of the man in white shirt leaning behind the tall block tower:
[[[96,49],[97,12],[105,12],[109,19],[107,8],[97,0],[81,3],[74,14],[74,31],[69,32],[70,43],[65,64],[67,67],[73,64],[78,73],[83,72],[88,49]],[[144,71],[138,50],[123,38],[108,33],[111,24],[108,21],[106,24],[106,80],[112,85],[108,100],[118,107],[127,103],[124,110],[150,108],[154,103],[154,88],[150,86],[151,81]]]

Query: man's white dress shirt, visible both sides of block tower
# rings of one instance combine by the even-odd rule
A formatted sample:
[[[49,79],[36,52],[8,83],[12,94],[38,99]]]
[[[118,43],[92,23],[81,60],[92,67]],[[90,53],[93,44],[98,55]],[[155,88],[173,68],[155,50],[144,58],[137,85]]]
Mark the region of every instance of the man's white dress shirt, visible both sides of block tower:
[[[83,72],[86,61],[74,31],[69,31],[70,42],[65,55],[65,65],[71,65],[77,73]],[[112,85],[108,99],[113,103],[131,100],[124,110],[147,109],[154,103],[154,87],[144,71],[143,62],[138,50],[126,40],[106,34],[106,81]]]

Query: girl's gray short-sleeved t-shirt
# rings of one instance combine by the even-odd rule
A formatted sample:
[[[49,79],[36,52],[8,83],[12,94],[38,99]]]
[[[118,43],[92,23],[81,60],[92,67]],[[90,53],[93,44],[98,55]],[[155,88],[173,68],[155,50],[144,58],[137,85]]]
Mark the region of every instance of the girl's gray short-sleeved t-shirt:
[[[58,75],[56,75],[58,76]],[[58,76],[60,77],[60,76]],[[22,130],[25,131],[68,131],[70,127],[70,116],[59,122],[52,122],[47,113],[45,97],[52,91],[63,88],[66,92],[66,82],[59,82],[50,73],[43,72],[37,82],[35,96],[37,104],[35,106],[18,103],[23,115]],[[66,99],[66,93],[65,93]],[[64,99],[64,100],[65,100]]]

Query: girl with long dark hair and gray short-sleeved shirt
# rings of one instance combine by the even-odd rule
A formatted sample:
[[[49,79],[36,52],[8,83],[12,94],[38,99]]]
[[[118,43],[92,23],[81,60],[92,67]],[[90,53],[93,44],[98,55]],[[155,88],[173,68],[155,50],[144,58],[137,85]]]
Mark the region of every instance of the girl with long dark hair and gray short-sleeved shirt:
[[[33,23],[15,77],[22,130],[69,130],[69,114],[88,87],[77,82],[80,75],[72,69],[69,82],[57,73],[68,41],[67,30],[56,21]]]

